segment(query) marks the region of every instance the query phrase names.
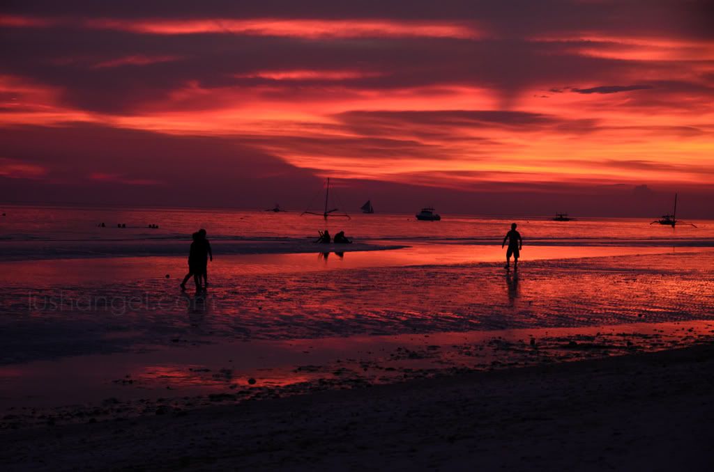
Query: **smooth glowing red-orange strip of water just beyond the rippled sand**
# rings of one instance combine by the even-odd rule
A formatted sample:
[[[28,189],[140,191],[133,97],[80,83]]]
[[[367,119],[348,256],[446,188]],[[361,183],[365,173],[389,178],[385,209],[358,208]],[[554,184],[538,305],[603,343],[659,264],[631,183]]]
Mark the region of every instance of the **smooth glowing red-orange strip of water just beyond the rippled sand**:
[[[331,247],[331,249],[333,249]],[[621,246],[524,246],[521,264],[528,261],[573,259],[620,255],[672,254],[702,252],[700,247],[621,247]],[[503,262],[506,251],[500,245],[458,245],[413,243],[399,250],[305,254],[219,255],[208,265],[211,277],[241,274],[280,274],[367,267],[403,267],[410,265],[455,265],[476,262]],[[113,282],[146,278],[183,277],[184,257],[119,257],[99,259],[39,260],[1,262],[1,284],[41,287],[52,282]]]

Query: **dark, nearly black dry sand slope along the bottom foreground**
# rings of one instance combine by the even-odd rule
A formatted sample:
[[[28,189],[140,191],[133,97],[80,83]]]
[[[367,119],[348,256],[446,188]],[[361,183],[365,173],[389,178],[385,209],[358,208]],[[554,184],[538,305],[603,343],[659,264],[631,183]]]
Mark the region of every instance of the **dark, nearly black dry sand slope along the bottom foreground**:
[[[0,469],[711,470],[714,345],[0,433]]]

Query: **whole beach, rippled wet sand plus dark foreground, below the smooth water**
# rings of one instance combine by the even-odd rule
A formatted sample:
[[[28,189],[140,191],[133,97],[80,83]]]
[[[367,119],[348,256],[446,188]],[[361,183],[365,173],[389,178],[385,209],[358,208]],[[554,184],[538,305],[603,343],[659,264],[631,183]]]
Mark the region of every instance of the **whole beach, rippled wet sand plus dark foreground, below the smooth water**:
[[[436,246],[2,262],[1,468],[696,469],[712,250]]]

